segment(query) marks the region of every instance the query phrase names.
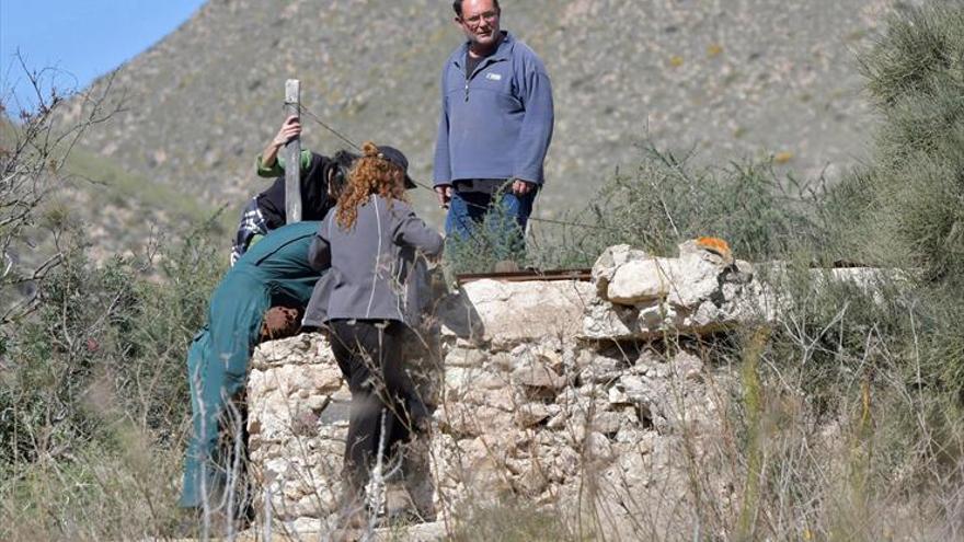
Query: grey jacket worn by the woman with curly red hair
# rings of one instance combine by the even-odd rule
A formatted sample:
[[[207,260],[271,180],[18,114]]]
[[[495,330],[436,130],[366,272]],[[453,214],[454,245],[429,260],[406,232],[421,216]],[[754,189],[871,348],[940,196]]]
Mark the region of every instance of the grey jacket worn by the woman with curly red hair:
[[[322,220],[308,262],[331,267],[319,280],[303,324],[318,326],[333,319],[420,321],[424,261],[441,254],[443,238],[415,216],[404,201],[370,196],[358,207],[355,227],[343,230],[335,209]]]

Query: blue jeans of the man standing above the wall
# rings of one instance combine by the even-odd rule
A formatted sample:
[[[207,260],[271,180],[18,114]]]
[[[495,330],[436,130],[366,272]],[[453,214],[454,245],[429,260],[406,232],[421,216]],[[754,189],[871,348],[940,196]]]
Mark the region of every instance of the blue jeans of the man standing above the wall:
[[[475,240],[491,245],[498,260],[525,251],[526,224],[532,212],[538,187],[525,196],[516,196],[510,186],[506,192],[452,191],[445,233],[462,240]]]

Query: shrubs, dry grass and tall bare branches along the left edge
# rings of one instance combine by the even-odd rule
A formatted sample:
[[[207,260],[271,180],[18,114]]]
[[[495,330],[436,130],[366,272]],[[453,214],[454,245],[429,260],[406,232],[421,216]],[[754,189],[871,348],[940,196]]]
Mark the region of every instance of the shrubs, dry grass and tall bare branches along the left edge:
[[[44,101],[4,124],[0,145],[0,539],[157,533],[173,521],[184,348],[225,258],[199,226],[162,247],[141,239],[141,256],[94,261],[87,224],[57,196],[74,143],[112,112],[103,96],[45,94],[45,74],[32,77]],[[68,99],[89,112],[65,126]]]

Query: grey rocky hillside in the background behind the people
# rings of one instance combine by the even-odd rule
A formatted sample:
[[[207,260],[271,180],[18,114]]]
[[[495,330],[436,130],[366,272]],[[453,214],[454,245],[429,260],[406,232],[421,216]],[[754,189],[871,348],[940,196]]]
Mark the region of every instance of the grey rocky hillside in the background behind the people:
[[[540,54],[555,92],[536,214],[577,207],[646,137],[707,161],[773,155],[805,176],[852,165],[870,126],[853,49],[890,3],[505,0],[503,27]],[[251,162],[283,118],[285,79],[298,78],[312,113],[355,141],[402,148],[431,182],[438,71],[460,42],[451,15],[428,0],[211,0],[119,70],[127,111],[88,146],[240,208],[262,186]],[[306,126],[310,147],[344,145]],[[416,199],[428,209],[426,191]]]

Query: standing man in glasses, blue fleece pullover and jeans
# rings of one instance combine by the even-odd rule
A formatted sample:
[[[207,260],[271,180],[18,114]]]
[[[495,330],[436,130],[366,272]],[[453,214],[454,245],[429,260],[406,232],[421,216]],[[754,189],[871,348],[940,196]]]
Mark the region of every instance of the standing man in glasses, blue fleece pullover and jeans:
[[[441,70],[435,192],[448,206],[445,230],[470,238],[501,207],[508,221],[496,221],[500,233],[524,247],[552,140],[549,74],[532,49],[500,30],[498,0],[456,0],[452,9],[468,41]]]

